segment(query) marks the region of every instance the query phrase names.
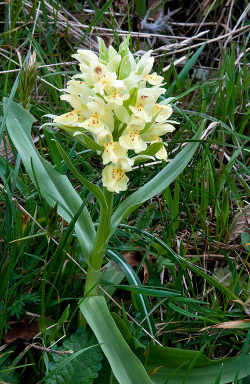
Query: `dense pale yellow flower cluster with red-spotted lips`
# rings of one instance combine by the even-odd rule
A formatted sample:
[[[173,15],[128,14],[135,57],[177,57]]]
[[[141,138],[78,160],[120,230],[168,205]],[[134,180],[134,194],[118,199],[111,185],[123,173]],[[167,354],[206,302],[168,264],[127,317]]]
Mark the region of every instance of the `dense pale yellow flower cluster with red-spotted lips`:
[[[157,103],[165,89],[162,76],[149,74],[154,61],[150,51],[134,59],[128,38],[118,52],[112,46],[107,50],[101,38],[98,42],[99,57],[87,49],[72,55],[80,72],[60,96],[72,109],[53,123],[101,153],[102,184],[119,192],[127,188],[125,173],[134,162],[167,158],[160,136],[173,131],[174,121],[168,120],[171,105]]]

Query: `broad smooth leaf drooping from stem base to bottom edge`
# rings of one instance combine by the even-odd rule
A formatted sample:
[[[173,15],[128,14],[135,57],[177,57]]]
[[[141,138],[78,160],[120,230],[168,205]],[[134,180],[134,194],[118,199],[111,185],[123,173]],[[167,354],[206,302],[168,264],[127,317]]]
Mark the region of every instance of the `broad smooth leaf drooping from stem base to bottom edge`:
[[[79,308],[103,350],[119,384],[152,384],[143,365],[133,354],[112,316],[103,296],[87,296]]]

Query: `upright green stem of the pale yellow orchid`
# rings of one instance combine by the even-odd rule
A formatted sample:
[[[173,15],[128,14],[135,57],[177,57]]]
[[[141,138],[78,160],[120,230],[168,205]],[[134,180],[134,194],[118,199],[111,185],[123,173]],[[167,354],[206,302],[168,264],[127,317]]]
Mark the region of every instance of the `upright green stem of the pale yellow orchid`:
[[[87,267],[87,276],[84,286],[84,294],[87,296],[97,295],[99,272],[108,243],[107,234],[109,232],[112,214],[113,192],[109,192],[104,187],[103,193],[107,203],[107,210],[105,210],[105,212],[100,210],[93,250],[90,255],[90,265]]]

